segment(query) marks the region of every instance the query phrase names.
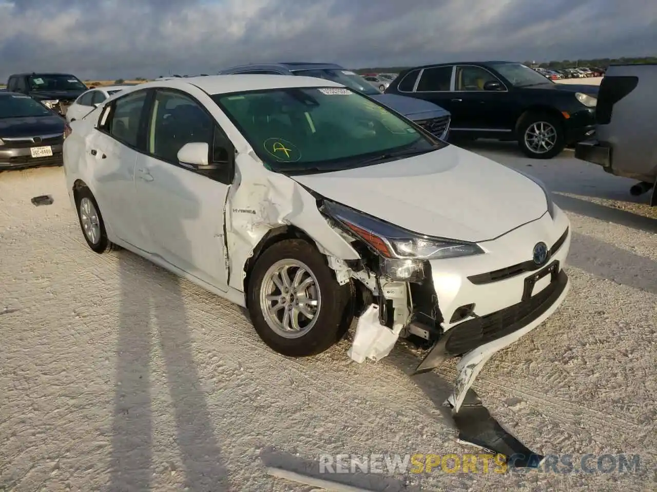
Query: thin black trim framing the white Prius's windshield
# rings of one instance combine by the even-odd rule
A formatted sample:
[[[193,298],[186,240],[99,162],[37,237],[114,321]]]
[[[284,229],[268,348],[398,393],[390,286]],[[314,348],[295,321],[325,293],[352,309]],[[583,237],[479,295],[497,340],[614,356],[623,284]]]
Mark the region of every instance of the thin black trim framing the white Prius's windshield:
[[[267,157],[265,157],[265,152],[260,150],[259,146],[256,146],[253,144],[250,138],[248,138],[247,133],[244,131],[244,127],[240,125],[240,123],[235,119],[235,117],[229,112],[226,107],[221,103],[221,99],[229,96],[241,96],[244,94],[254,94],[254,93],[259,93],[262,94],[264,92],[276,92],[276,91],[285,91],[287,89],[335,89],[336,86],[331,86],[331,85],[316,85],[316,86],[295,86],[295,87],[272,87],[269,89],[251,89],[249,91],[233,91],[233,92],[219,92],[217,94],[210,94],[210,98],[214,102],[214,104],[217,105],[217,107],[221,110],[221,112],[229,119],[229,121],[233,124],[233,126],[237,129],[237,131],[240,133],[242,138],[248,142],[249,146],[252,148],[252,150],[258,155],[258,158],[260,161],[263,163],[266,169],[269,171],[272,171],[273,173],[279,173],[279,174],[285,174],[286,176],[295,176],[295,175],[300,175],[300,174],[323,174],[323,173],[333,173],[335,171],[342,171],[346,169],[355,169],[357,167],[368,167],[368,166],[373,166],[380,164],[382,162],[390,162],[390,161],[399,161],[402,159],[406,159],[407,156],[399,156],[399,157],[390,157],[386,159],[382,159],[379,161],[374,161],[373,157],[376,157],[376,155],[382,155],[382,154],[395,154],[398,152],[401,148],[406,147],[408,144],[404,144],[402,146],[399,146],[397,148],[390,148],[386,149],[384,151],[376,151],[376,152],[369,152],[367,154],[360,154],[360,155],[350,155],[348,157],[342,157],[340,159],[331,159],[330,161],[315,161],[315,162],[309,162],[305,163],[302,165],[298,165],[295,169],[290,169],[289,167],[286,167],[286,163],[281,162],[281,163],[272,163]],[[442,148],[445,148],[449,146],[449,143],[444,142],[443,140],[440,140],[440,138],[437,138],[433,134],[429,133],[426,131],[424,128],[420,127],[420,125],[417,125],[415,121],[412,121],[411,119],[405,117],[404,115],[401,115],[397,113],[396,111],[388,108],[388,106],[385,106],[384,104],[381,104],[374,98],[371,98],[367,94],[363,94],[363,92],[359,91],[354,91],[350,87],[342,87],[340,86],[340,89],[347,89],[350,92],[353,92],[353,94],[357,96],[361,96],[364,98],[367,98],[380,108],[383,108],[389,113],[392,113],[396,117],[402,119],[405,123],[407,123],[409,126],[413,127],[415,131],[420,135],[420,139],[424,138],[426,142],[431,144],[432,148],[430,150],[427,150],[426,154],[429,152],[434,152],[436,150],[440,150]],[[360,163],[359,163],[360,161]],[[341,163],[350,163],[348,167],[340,167],[339,164]],[[326,169],[319,169],[319,167],[326,166]],[[297,169],[298,168],[298,169]]]

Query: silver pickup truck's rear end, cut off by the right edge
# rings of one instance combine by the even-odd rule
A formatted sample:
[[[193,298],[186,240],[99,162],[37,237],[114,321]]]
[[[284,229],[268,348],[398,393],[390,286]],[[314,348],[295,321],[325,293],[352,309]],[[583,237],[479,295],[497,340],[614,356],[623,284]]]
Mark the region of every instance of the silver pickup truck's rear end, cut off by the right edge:
[[[580,142],[575,157],[604,171],[639,180],[629,190],[652,190],[657,206],[657,64],[612,65],[600,83],[595,140]]]

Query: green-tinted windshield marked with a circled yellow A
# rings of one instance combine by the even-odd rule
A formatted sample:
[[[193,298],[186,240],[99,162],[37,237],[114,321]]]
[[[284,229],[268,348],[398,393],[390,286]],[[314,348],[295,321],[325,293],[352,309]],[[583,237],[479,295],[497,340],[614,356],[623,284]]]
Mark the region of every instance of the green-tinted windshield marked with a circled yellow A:
[[[273,171],[337,171],[447,145],[342,87],[249,91],[212,98]]]

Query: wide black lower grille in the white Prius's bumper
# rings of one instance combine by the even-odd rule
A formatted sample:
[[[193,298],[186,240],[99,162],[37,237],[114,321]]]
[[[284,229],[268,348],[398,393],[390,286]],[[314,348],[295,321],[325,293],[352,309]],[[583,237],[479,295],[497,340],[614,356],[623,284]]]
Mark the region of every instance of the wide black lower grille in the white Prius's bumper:
[[[450,354],[464,354],[527,326],[556,302],[567,283],[568,276],[561,270],[556,281],[528,300],[456,325],[445,333],[445,336],[449,337],[445,342],[445,349]]]

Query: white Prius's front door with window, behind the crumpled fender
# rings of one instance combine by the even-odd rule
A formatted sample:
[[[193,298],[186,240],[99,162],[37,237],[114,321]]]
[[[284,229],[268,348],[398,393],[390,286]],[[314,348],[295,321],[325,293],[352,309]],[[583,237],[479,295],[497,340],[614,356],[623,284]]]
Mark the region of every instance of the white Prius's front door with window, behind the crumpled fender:
[[[227,289],[224,205],[231,173],[198,171],[177,159],[180,148],[205,142],[209,161],[229,165],[229,141],[214,118],[184,92],[158,89],[145,154],[137,158],[137,209],[148,251],[188,274]]]

